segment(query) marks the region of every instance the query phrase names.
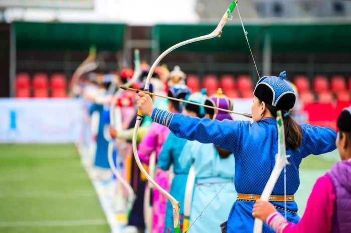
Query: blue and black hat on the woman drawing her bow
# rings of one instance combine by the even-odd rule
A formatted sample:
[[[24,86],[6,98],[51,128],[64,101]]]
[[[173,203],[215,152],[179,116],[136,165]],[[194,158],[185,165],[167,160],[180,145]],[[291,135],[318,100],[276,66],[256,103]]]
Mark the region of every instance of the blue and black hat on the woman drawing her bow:
[[[296,95],[285,77],[286,71],[281,72],[279,77],[264,76],[260,78],[255,86],[254,95],[267,104],[288,111],[294,107]]]

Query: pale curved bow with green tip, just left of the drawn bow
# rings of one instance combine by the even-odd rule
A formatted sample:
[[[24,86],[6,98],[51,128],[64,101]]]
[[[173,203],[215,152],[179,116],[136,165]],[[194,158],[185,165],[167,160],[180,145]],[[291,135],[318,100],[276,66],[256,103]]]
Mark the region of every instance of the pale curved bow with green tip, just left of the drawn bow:
[[[134,74],[133,74],[133,77],[127,83],[125,83],[125,85],[130,86],[138,79],[140,74],[141,74],[140,56],[139,56],[139,50],[136,49],[134,51]],[[115,127],[117,132],[120,132],[122,130],[122,119],[121,119],[121,112],[120,112],[121,109],[120,107],[115,107],[118,97],[121,94],[120,90],[121,89],[118,89],[116,93],[113,95],[111,100],[111,109],[110,109],[111,126]],[[117,110],[117,112],[115,110]],[[124,179],[124,177],[119,173],[119,171],[117,170],[117,168],[113,163],[113,146],[114,146],[114,142],[110,141],[108,143],[108,163],[111,167],[113,174],[117,177],[117,179],[121,182],[121,184],[127,189],[127,192],[128,192],[127,212],[129,217],[130,211],[135,201],[135,194],[129,182],[126,179]]]

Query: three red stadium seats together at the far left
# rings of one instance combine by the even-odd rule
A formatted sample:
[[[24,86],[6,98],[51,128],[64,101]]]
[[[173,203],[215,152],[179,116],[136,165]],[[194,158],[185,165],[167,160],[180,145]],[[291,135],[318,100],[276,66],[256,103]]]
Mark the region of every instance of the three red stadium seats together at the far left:
[[[36,73],[31,80],[28,73],[18,73],[16,76],[16,97],[18,98],[65,98],[67,83],[65,75],[54,73],[49,78],[45,73]],[[33,94],[32,94],[33,90]],[[51,95],[49,95],[51,93]]]

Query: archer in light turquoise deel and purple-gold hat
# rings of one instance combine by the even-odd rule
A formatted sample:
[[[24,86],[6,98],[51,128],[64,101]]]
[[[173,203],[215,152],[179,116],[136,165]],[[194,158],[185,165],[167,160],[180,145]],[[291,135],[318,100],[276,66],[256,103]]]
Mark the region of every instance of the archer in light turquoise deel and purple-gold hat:
[[[206,105],[220,107],[228,110],[233,109],[233,102],[219,89],[217,94],[210,98],[206,96]],[[228,112],[214,111],[211,108],[199,107],[197,105],[186,104],[186,109],[196,112],[195,117],[205,117],[223,121],[224,119],[233,120]],[[191,110],[193,109],[193,111]],[[201,109],[197,111],[197,109]],[[202,113],[201,113],[202,112]],[[205,113],[205,115],[204,115]],[[230,212],[228,200],[236,196],[234,188],[234,156],[232,152],[220,148],[213,144],[202,144],[197,141],[188,141],[179,158],[179,163],[185,170],[189,170],[194,165],[195,183],[193,180],[194,195],[191,203],[190,224],[196,220],[202,210],[211,203],[206,212],[201,215],[201,219],[195,221],[188,232],[218,232],[219,223],[226,221]],[[188,182],[191,182],[190,180]],[[224,187],[223,187],[224,186]],[[187,183],[187,193],[188,190]],[[220,190],[223,190],[220,192]],[[193,192],[189,192],[193,193]],[[179,199],[182,200],[182,199]],[[186,203],[182,202],[181,203]],[[188,201],[187,201],[188,203]],[[183,206],[184,206],[183,204]],[[204,229],[206,226],[206,230]],[[187,230],[189,224],[185,225],[183,232]]]

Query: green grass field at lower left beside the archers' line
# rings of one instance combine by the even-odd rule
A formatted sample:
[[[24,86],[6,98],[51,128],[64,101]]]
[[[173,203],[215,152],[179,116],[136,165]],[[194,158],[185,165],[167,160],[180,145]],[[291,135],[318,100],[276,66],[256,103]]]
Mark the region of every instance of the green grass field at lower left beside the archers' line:
[[[109,232],[73,144],[0,145],[0,232]]]

